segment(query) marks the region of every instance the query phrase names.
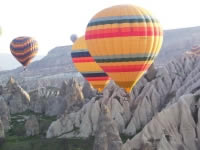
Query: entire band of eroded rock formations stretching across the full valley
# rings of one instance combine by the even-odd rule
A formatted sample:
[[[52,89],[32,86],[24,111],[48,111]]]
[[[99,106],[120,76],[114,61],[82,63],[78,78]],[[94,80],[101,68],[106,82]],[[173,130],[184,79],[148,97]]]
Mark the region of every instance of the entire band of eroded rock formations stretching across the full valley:
[[[198,150],[199,58],[185,53],[152,67],[131,94],[114,82],[98,94],[73,79],[59,88],[27,92],[11,78],[0,87],[1,126],[9,130],[9,114],[31,110],[57,116],[45,131],[46,138],[95,136],[95,150]],[[129,139],[123,143],[120,135]]]

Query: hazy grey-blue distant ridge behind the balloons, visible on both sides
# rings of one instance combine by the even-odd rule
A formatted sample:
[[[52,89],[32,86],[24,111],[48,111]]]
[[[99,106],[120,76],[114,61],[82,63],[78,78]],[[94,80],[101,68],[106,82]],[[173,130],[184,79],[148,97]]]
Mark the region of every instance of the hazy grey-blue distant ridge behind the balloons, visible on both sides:
[[[163,45],[155,64],[164,65],[174,57],[190,50],[192,46],[199,45],[199,43],[200,26],[165,30]],[[10,76],[13,76],[17,81],[31,82],[31,86],[35,84],[34,87],[38,85],[41,86],[41,82],[45,82],[42,86],[51,84],[56,86],[61,80],[77,76],[80,77],[71,59],[71,48],[72,46],[70,45],[52,49],[47,56],[31,63],[26,71],[23,71],[22,67],[10,71],[1,71],[0,83],[6,82]],[[0,64],[4,64],[5,62],[6,61]],[[50,80],[52,83],[50,83]],[[60,82],[58,82],[58,80],[60,80]],[[22,83],[21,85],[23,86]]]

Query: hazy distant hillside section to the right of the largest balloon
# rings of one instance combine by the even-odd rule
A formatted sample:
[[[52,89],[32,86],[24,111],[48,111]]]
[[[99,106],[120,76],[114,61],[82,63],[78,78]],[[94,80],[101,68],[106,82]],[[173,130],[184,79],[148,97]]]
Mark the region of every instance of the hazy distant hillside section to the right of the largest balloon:
[[[163,46],[156,63],[166,64],[199,43],[200,27],[165,30]]]

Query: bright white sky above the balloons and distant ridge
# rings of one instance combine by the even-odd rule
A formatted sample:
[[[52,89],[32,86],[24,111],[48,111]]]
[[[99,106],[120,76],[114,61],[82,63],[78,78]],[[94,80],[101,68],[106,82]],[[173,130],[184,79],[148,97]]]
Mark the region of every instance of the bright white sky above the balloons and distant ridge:
[[[71,45],[71,34],[82,36],[92,16],[118,4],[150,10],[164,29],[200,26],[199,0],[1,0],[0,53],[10,53],[10,41],[22,35],[39,42],[39,55]]]

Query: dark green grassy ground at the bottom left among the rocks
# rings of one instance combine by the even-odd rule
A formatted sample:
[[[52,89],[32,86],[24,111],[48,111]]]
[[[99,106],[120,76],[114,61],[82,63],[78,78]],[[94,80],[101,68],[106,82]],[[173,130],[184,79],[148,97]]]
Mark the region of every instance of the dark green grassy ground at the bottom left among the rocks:
[[[37,116],[40,124],[40,135],[26,137],[23,116],[32,112],[13,115],[11,118],[12,129],[6,133],[5,142],[0,145],[0,150],[92,150],[94,138],[89,139],[46,139],[45,133],[55,117]],[[22,120],[19,122],[19,120]]]

